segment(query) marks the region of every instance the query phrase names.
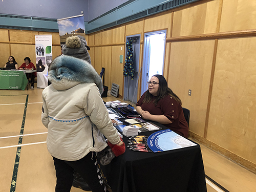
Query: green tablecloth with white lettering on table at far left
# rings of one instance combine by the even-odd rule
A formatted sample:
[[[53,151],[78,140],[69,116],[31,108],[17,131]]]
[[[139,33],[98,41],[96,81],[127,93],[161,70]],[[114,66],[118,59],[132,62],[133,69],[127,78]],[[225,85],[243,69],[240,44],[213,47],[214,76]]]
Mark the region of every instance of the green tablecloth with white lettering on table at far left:
[[[24,71],[0,71],[0,89],[25,90],[28,79]]]

